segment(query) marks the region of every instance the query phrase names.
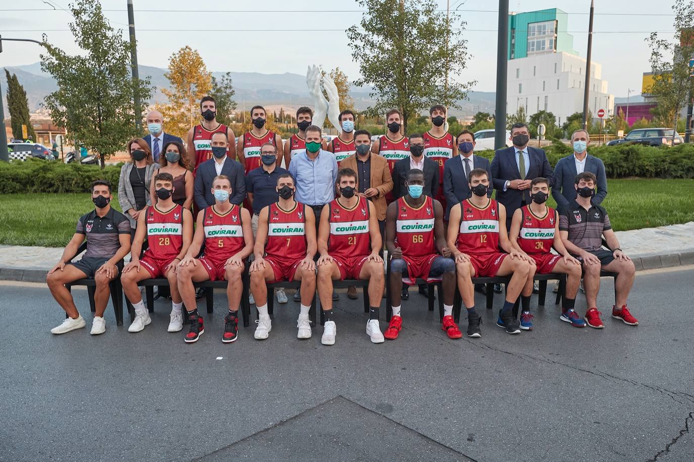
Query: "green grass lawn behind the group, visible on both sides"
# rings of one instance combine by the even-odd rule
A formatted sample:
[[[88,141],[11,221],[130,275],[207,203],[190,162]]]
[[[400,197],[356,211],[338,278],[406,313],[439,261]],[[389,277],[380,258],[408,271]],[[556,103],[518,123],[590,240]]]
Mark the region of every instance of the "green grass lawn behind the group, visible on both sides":
[[[608,180],[608,191],[603,205],[617,231],[694,221],[694,180]],[[115,198],[112,205],[119,209]],[[93,207],[89,194],[3,194],[0,244],[65,246]]]

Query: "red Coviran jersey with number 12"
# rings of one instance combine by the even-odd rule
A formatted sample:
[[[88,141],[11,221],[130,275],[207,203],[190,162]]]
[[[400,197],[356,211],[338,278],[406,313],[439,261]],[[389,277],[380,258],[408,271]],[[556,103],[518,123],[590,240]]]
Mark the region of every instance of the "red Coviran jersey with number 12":
[[[455,244],[458,250],[470,254],[499,253],[499,206],[489,199],[483,209],[469,199],[460,203],[460,229]]]

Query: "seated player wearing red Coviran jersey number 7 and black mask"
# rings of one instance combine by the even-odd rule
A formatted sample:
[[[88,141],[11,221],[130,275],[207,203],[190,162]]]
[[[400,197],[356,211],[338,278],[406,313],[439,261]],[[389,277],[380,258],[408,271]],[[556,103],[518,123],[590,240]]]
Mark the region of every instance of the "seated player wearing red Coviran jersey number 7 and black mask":
[[[255,260],[251,264],[251,293],[258,309],[255,339],[267,339],[272,322],[267,312],[266,282],[301,281],[299,339],[311,338],[308,318],[316,293],[316,223],[313,209],[294,200],[294,178],[282,173],[277,178],[279,199],[258,214]]]

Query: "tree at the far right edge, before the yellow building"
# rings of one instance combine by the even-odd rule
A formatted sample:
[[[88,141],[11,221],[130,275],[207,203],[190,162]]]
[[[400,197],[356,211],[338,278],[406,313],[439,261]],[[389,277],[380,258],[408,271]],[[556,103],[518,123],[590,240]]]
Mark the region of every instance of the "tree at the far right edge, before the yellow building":
[[[675,41],[661,39],[657,32],[651,33],[647,40],[653,72],[653,83],[648,93],[658,103],[657,118],[672,121],[674,142],[679,112],[694,96],[693,69],[689,67],[690,60],[694,59],[694,3],[675,0],[672,11],[675,12]]]

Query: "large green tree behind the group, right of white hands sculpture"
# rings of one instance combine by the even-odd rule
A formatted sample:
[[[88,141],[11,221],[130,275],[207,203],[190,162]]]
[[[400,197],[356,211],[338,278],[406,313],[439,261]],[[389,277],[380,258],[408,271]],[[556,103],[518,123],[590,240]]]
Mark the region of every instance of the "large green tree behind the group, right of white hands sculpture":
[[[369,114],[392,108],[403,125],[434,104],[460,109],[473,82],[460,80],[466,68],[465,22],[450,19],[434,0],[358,0],[358,25],[347,29],[352,57],[362,77],[354,85],[373,87]],[[387,62],[387,65],[384,65]]]

